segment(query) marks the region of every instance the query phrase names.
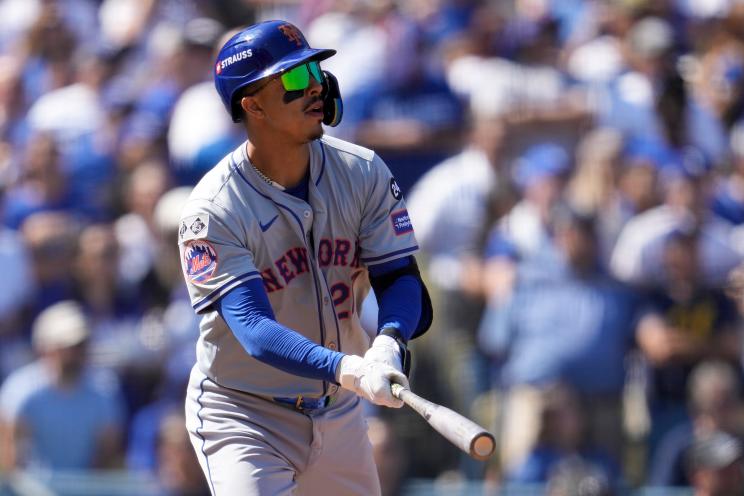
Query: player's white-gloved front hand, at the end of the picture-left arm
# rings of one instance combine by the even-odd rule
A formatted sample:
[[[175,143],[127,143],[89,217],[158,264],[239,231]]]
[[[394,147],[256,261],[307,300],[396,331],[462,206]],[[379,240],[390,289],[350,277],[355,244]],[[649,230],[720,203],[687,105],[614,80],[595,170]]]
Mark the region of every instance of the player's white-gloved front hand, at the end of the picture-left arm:
[[[357,355],[345,355],[336,369],[336,380],[341,387],[353,391],[375,405],[400,408],[403,401],[390,391],[390,384],[397,382],[408,388],[408,379],[390,365],[365,360]]]

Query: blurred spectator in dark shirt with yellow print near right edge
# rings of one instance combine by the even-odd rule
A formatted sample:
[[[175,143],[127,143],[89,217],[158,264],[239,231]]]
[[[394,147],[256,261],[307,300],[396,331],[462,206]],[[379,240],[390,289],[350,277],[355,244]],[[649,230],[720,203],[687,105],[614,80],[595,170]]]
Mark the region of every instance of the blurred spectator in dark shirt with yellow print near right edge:
[[[674,232],[664,242],[664,284],[652,291],[640,315],[637,342],[651,366],[651,448],[684,420],[687,380],[706,359],[739,358],[736,309],[723,291],[701,282],[698,237]]]

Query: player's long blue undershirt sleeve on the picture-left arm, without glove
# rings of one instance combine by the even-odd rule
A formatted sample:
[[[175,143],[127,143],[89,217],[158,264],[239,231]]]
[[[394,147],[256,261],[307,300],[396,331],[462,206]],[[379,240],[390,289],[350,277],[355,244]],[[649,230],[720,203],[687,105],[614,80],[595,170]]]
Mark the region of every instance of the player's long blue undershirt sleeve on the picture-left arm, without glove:
[[[275,320],[261,279],[230,290],[215,304],[217,312],[250,356],[290,374],[336,382],[343,353],[313,343]]]

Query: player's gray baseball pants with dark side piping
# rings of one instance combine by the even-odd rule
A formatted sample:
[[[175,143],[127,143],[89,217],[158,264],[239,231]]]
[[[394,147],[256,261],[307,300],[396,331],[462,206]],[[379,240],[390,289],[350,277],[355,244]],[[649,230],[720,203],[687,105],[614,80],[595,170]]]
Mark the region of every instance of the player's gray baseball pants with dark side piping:
[[[379,495],[360,399],[302,413],[224,388],[194,367],[186,427],[212,496]]]

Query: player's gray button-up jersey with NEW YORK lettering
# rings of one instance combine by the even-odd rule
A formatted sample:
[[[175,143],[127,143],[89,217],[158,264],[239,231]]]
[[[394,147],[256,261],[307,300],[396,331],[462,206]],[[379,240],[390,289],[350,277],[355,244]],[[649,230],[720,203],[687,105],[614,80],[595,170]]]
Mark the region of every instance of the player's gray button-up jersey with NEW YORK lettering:
[[[374,152],[324,137],[311,143],[307,203],[262,179],[245,150],[204,176],[182,214],[181,262],[203,314],[198,365],[218,384],[254,394],[333,392],[249,356],[212,304],[261,278],[279,323],[330,349],[363,354],[366,267],[418,249],[400,189]]]

